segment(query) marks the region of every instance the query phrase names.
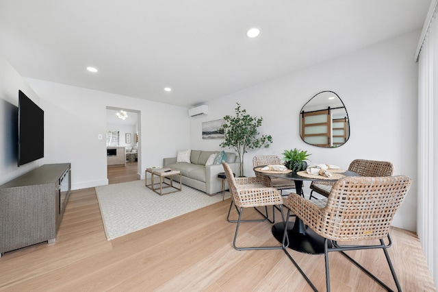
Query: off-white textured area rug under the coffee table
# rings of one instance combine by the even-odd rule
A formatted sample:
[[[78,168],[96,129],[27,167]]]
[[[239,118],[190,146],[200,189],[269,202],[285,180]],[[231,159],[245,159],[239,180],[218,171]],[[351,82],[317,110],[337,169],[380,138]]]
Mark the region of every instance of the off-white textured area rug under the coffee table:
[[[222,200],[222,193],[210,197],[185,185],[181,192],[160,196],[144,180],[97,186],[96,194],[109,241]]]

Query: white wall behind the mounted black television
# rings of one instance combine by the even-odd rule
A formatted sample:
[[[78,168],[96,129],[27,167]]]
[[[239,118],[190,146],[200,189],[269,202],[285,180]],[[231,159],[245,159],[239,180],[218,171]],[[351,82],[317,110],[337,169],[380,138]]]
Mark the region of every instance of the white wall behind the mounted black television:
[[[18,90],[38,106],[38,95],[0,53],[0,184],[27,173],[44,163],[44,158],[17,167]]]

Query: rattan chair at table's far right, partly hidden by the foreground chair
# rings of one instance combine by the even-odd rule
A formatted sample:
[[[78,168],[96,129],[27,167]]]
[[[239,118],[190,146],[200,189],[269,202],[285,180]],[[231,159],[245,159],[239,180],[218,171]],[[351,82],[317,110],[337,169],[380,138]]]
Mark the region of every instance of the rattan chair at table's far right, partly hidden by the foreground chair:
[[[350,163],[348,170],[355,172],[360,176],[377,177],[394,175],[394,165],[387,161],[355,159]],[[335,182],[311,182],[309,199],[314,197],[312,195],[313,191],[324,197],[329,197],[333,184],[335,184]]]

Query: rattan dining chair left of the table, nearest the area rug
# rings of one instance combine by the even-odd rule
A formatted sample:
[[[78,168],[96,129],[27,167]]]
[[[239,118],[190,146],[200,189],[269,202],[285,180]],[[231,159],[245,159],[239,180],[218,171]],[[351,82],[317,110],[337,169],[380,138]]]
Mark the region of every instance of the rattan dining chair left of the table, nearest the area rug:
[[[281,211],[281,217],[284,221],[283,216],[283,199],[279,191],[276,188],[269,188],[261,184],[257,178],[235,178],[233,171],[227,164],[227,162],[222,162],[224,167],[225,175],[227,176],[230,193],[231,193],[231,205],[228,211],[227,219],[230,222],[236,222],[233,247],[236,250],[280,250],[283,249],[283,245],[279,246],[266,246],[266,247],[237,247],[237,234],[239,232],[239,227],[241,222],[259,222],[259,221],[269,221],[268,218],[268,206],[278,205]],[[235,206],[237,213],[239,215],[237,221],[229,220],[229,215],[231,207]],[[242,212],[244,208],[254,207],[261,215],[263,219],[248,219],[242,220]],[[257,207],[264,207],[266,214],[263,214],[258,210]],[[270,221],[273,223],[272,221]]]

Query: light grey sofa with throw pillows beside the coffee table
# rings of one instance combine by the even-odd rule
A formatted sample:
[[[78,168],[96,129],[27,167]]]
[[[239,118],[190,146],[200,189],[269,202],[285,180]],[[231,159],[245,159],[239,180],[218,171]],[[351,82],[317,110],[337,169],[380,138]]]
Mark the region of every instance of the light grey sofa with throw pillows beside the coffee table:
[[[220,151],[202,151],[192,150],[190,152],[190,163],[177,162],[176,157],[164,158],[164,167],[178,169],[181,171],[181,180],[183,184],[196,188],[199,191],[212,195],[222,191],[222,179],[218,178],[218,173],[224,172],[222,164],[205,165],[211,154],[218,154]],[[240,163],[239,157],[235,153],[225,152],[227,163],[229,163],[234,173],[238,173]],[[179,177],[174,177],[179,181]],[[225,188],[228,188],[226,182]]]

